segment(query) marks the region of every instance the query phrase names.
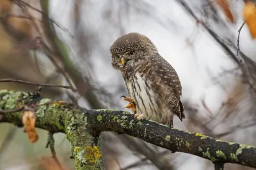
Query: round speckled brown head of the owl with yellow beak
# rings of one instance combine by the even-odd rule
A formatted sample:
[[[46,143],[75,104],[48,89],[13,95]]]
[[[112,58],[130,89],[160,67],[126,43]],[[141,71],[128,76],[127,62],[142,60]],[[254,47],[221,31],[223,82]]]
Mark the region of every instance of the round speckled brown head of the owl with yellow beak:
[[[132,32],[116,39],[110,52],[112,66],[123,71],[146,62],[152,53],[157,52],[157,48],[146,36]]]

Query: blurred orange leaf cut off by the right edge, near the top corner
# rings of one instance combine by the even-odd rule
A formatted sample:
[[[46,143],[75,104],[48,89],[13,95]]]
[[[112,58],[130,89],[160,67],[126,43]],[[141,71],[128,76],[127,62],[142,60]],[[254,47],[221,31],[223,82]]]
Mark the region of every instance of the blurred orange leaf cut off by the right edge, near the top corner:
[[[256,6],[248,1],[244,4],[243,17],[253,39],[256,38]]]

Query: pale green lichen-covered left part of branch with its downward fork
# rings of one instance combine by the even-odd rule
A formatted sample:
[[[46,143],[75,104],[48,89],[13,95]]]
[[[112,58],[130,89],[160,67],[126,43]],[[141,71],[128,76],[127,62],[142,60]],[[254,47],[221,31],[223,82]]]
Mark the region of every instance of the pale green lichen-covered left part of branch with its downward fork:
[[[76,169],[104,169],[100,142],[95,142],[98,136],[91,136],[85,126],[87,115],[84,108],[70,103],[56,103],[51,99],[40,99],[40,96],[33,96],[26,92],[0,90],[2,110],[13,110],[24,104],[34,110],[36,127],[51,133],[67,134],[71,144],[70,157],[74,158]],[[10,122],[22,127],[21,118],[20,112],[4,113],[0,122]]]

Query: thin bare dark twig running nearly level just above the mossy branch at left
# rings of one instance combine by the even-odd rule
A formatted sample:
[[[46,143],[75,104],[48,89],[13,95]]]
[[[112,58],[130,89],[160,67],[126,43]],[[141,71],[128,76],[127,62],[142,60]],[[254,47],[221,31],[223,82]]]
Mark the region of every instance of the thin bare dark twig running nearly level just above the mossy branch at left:
[[[0,79],[1,82],[15,82],[15,83],[24,83],[24,84],[29,84],[29,85],[36,85],[36,86],[45,86],[45,87],[60,87],[64,89],[70,89],[73,92],[77,92],[77,89],[74,89],[73,87],[70,86],[65,86],[65,85],[52,85],[52,84],[45,84],[45,83],[33,83],[30,81],[24,81],[24,80],[17,80],[15,78],[3,78]]]

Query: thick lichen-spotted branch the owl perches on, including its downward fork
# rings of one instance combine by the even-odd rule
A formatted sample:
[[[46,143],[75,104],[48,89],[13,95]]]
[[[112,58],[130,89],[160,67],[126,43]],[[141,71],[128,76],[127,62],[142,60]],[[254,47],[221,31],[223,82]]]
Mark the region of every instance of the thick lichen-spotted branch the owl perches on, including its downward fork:
[[[41,99],[26,92],[0,90],[1,110],[26,104],[36,115],[36,127],[51,133],[63,132],[71,144],[76,169],[104,169],[100,132],[114,131],[143,139],[172,152],[184,152],[211,160],[215,165],[235,163],[256,168],[256,148],[210,138],[199,133],[170,129],[150,120],[134,122],[120,110],[86,110],[72,103]],[[1,122],[22,127],[22,114],[3,113]]]

